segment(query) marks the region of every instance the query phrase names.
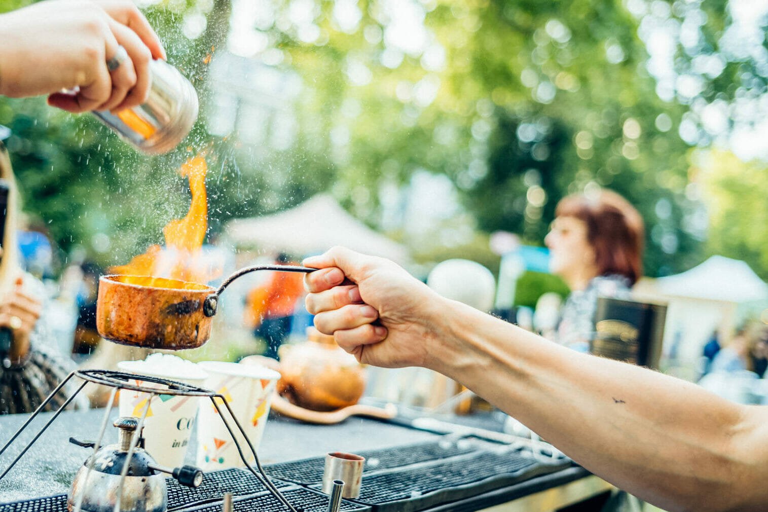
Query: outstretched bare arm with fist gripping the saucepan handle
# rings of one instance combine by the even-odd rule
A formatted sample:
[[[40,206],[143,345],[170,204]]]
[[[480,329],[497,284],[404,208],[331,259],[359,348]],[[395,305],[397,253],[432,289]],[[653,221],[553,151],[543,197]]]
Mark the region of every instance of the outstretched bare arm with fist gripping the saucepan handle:
[[[768,413],[563,348],[436,295],[383,259],[307,259],[317,328],[361,361],[442,372],[594,474],[667,510],[764,510]]]

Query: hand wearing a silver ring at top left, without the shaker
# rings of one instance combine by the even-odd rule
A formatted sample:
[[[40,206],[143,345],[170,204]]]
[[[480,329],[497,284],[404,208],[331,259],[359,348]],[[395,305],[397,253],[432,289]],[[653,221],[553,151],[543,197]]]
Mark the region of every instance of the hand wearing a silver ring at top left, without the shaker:
[[[33,3],[0,14],[0,40],[0,94],[45,94],[51,106],[75,113],[142,103],[150,61],[166,58],[131,0]]]

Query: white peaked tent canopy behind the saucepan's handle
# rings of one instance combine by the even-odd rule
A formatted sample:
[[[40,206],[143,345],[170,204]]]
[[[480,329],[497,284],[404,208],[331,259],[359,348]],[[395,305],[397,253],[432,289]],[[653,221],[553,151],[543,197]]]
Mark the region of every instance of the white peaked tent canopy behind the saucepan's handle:
[[[405,247],[356,220],[326,194],[273,215],[230,220],[224,231],[237,246],[296,255],[346,246],[398,263],[405,263],[408,256]]]

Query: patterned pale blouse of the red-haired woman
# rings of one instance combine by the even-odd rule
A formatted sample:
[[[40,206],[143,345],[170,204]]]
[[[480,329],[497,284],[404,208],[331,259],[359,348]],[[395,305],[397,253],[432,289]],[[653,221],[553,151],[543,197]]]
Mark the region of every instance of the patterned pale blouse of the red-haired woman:
[[[628,299],[630,286],[626,277],[611,274],[597,276],[591,279],[587,288],[571,292],[560,312],[555,341],[579,352],[588,352],[594,335],[594,310],[598,306],[598,296]]]

